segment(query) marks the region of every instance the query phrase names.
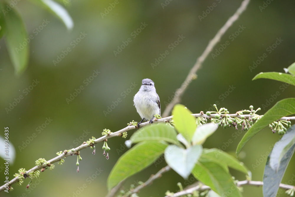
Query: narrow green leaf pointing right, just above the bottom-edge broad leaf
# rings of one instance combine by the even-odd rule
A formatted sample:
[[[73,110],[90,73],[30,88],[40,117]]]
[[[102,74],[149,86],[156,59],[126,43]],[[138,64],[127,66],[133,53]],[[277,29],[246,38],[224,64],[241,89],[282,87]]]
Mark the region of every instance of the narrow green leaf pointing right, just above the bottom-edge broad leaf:
[[[244,165],[243,162],[240,162],[232,155],[220,150],[220,149],[204,149],[203,154],[201,155],[201,159],[211,160],[217,164],[221,164],[232,169],[238,170],[240,172],[245,173],[249,177],[251,177],[251,172]]]

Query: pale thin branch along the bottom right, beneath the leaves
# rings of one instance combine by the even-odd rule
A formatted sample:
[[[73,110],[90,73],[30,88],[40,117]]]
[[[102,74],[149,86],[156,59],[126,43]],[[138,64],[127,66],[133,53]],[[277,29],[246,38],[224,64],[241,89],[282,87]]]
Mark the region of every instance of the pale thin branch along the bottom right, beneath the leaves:
[[[238,187],[240,187],[242,185],[262,186],[263,182],[262,181],[253,181],[253,180],[242,180],[242,181],[239,181],[237,183]],[[289,190],[289,189],[292,189],[292,188],[295,188],[295,187],[293,185],[286,185],[286,184],[281,183],[280,188],[282,188],[284,190]],[[186,195],[186,194],[192,194],[194,191],[204,191],[204,190],[210,190],[210,189],[211,188],[209,186],[207,186],[207,185],[197,185],[195,187],[192,187],[192,188],[177,192],[177,193],[173,194],[172,196],[169,195],[169,196],[165,196],[165,197],[179,197],[179,196],[183,196],[183,195]]]

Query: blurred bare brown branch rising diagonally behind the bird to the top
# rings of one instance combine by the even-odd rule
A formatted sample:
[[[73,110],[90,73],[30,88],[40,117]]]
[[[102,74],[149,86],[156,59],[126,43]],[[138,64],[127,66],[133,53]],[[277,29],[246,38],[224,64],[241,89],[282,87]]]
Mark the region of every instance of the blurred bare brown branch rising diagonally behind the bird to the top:
[[[189,84],[193,79],[196,79],[196,72],[201,68],[203,62],[209,55],[209,53],[213,50],[214,46],[220,41],[221,37],[224,35],[224,33],[232,26],[232,24],[240,17],[242,12],[244,12],[249,4],[250,0],[244,0],[241,4],[241,6],[237,9],[234,15],[230,17],[227,22],[221,27],[221,29],[217,32],[217,34],[214,36],[212,40],[210,40],[209,44],[207,45],[205,51],[202,53],[202,55],[197,59],[196,64],[191,68],[189,71],[188,76],[184,80],[184,82],[181,84],[181,87],[176,90],[175,97],[173,100],[168,104],[168,106],[165,108],[163,112],[163,117],[166,117],[171,112],[174,105],[179,103],[181,101],[181,97],[183,93],[188,88]]]

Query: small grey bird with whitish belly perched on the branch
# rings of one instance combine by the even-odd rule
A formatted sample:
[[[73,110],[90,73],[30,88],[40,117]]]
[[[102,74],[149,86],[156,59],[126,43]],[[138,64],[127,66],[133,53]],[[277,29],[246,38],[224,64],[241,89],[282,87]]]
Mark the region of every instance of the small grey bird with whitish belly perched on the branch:
[[[133,99],[134,106],[139,113],[142,120],[149,121],[152,123],[155,118],[155,114],[161,115],[160,98],[155,89],[155,83],[151,79],[143,79],[142,85],[139,91],[136,93]]]

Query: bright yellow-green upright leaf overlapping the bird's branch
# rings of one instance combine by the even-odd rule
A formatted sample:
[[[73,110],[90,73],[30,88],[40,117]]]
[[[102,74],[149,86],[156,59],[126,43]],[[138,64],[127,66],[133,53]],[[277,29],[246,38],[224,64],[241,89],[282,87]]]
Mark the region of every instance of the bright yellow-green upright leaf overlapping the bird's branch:
[[[196,131],[196,120],[191,114],[191,111],[181,104],[175,105],[172,110],[176,130],[189,142]]]

